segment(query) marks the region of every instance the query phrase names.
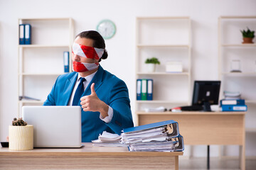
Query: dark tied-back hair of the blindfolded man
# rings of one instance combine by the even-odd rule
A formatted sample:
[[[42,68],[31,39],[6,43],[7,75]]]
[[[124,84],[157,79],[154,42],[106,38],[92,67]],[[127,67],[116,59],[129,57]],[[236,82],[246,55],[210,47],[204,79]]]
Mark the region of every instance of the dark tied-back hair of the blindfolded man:
[[[107,59],[107,50],[105,50],[105,40],[102,38],[102,35],[98,33],[96,30],[86,30],[83,31],[82,33],[79,33],[78,35],[75,36],[75,38],[80,37],[80,38],[88,38],[93,40],[93,47],[97,48],[103,48],[104,53],[102,57],[100,58],[99,62],[103,59]]]

